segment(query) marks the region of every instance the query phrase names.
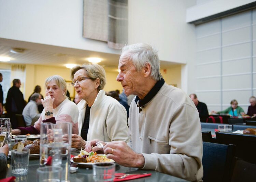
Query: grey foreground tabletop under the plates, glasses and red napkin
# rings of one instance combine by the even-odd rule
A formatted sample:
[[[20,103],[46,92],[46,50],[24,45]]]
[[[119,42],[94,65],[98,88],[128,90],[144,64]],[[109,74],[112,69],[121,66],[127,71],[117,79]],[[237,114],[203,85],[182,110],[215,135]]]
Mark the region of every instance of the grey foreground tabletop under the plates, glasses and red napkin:
[[[71,152],[72,155],[76,156],[79,154],[79,151],[73,151]],[[62,159],[67,160],[67,159]],[[74,163],[71,163],[71,166],[74,166]],[[37,168],[39,168],[39,158],[33,158],[29,160],[29,168],[27,175],[13,175],[12,174],[12,165],[10,158],[8,159],[8,172],[6,175],[7,177],[15,176],[16,181],[15,182],[34,182],[37,178]],[[70,182],[93,182],[93,169],[91,166],[81,166],[77,165],[76,167],[79,167],[75,173],[69,173],[69,181]],[[187,180],[177,178],[175,176],[171,176],[168,174],[163,174],[161,172],[157,172],[154,170],[142,170],[138,168],[133,167],[125,167],[122,165],[116,164],[115,173],[125,173],[125,174],[134,174],[134,173],[151,173],[151,176],[128,180],[132,182],[155,182],[155,181],[169,181],[169,182],[186,182]]]

